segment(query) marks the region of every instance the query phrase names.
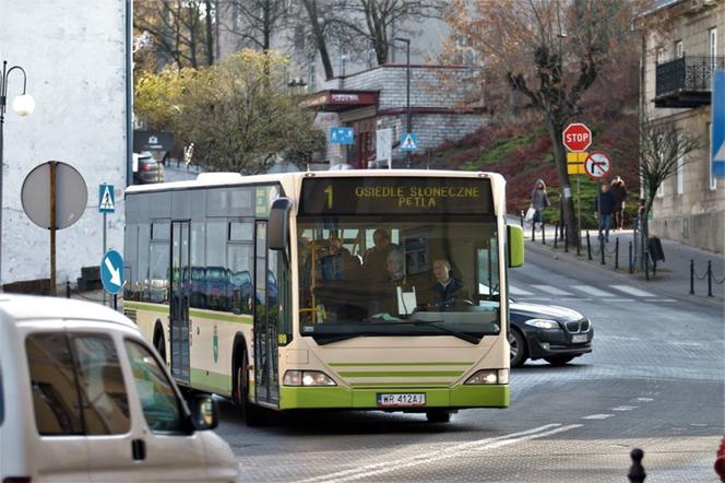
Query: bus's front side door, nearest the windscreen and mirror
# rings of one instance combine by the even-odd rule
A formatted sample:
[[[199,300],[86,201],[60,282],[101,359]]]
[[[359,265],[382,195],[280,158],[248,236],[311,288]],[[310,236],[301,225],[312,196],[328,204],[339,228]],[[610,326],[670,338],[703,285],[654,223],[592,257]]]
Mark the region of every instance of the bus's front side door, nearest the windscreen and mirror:
[[[254,394],[258,403],[276,408],[278,252],[266,248],[266,222],[257,222],[254,254]]]

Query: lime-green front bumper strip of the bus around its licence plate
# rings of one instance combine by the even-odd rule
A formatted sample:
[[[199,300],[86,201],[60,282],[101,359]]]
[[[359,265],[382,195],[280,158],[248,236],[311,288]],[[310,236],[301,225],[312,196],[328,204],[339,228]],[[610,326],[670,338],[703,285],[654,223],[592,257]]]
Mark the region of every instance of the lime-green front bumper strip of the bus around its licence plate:
[[[379,407],[378,394],[425,393],[426,404]],[[366,388],[280,387],[280,409],[369,409],[382,411],[425,411],[428,408],[508,408],[509,385],[470,385],[454,388]]]

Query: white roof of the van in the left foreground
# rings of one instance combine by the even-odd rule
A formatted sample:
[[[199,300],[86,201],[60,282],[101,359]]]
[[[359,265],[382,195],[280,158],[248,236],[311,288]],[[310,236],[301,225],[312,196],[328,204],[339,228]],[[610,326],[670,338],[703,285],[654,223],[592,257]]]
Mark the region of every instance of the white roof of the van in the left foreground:
[[[58,297],[0,294],[0,320],[69,319],[103,320],[138,329],[135,323],[121,314],[99,304]]]

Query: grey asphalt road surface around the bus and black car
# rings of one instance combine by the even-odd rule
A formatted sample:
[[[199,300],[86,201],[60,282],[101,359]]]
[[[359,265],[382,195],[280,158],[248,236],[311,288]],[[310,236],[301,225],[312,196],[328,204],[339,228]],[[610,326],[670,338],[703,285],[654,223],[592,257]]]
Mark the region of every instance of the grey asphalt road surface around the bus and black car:
[[[533,250],[512,271],[516,298],[589,315],[592,354],[528,362],[511,408],[448,424],[417,414],[311,412],[249,428],[223,402],[218,433],[245,481],[627,481],[640,447],[647,482],[718,481],[724,433],[723,307]],[[557,292],[558,291],[558,292]]]

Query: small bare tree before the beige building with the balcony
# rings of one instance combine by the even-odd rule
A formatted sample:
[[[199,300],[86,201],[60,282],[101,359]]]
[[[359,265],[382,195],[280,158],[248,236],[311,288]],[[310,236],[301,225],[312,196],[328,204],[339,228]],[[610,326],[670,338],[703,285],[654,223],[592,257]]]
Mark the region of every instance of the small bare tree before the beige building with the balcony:
[[[700,139],[671,122],[653,122],[645,117],[640,125],[640,172],[645,188],[643,239],[649,235],[647,220],[657,190],[678,168],[694,160],[688,155],[698,149]]]

